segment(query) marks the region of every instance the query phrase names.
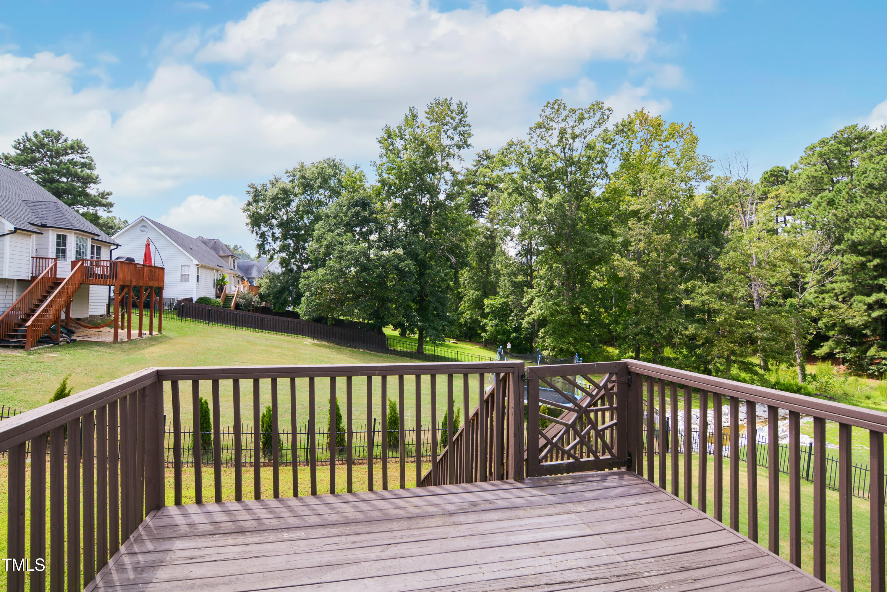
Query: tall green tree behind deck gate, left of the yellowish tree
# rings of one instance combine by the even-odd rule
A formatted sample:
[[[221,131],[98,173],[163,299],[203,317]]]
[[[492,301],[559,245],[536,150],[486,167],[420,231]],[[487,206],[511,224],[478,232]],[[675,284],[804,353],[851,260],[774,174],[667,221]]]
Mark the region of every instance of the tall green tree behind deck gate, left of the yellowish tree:
[[[597,343],[602,327],[596,271],[611,250],[608,204],[610,109],[550,101],[526,140],[503,148],[520,257],[529,266],[527,317],[540,347],[574,352]],[[541,327],[540,327],[541,325]]]

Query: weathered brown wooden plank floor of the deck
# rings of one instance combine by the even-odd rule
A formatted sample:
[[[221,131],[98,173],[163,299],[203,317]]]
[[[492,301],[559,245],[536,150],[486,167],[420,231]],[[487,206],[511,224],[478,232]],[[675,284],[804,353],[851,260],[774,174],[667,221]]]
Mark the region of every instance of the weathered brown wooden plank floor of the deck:
[[[96,590],[831,590],[624,470],[170,506]]]

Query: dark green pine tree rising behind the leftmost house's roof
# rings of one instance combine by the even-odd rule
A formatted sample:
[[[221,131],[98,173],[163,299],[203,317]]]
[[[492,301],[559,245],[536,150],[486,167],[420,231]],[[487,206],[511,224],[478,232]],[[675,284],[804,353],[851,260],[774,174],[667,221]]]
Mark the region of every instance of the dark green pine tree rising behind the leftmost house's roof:
[[[34,179],[102,232],[114,234],[128,225],[98,213],[111,211],[114,203],[108,199],[110,191],[98,190],[96,162],[81,139],[67,138],[57,130],[35,131],[13,141],[12,149],[14,154],[0,154],[0,162]]]

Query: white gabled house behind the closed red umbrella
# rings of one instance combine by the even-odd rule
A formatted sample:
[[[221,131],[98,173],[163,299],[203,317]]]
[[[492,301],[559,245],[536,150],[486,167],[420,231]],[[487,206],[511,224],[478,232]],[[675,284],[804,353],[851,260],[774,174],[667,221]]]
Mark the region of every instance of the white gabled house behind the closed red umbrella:
[[[152,242],[154,263],[166,268],[164,298],[215,297],[216,279],[232,273],[230,265],[203,241],[144,216],[114,234],[121,245],[114,256],[133,257],[141,263],[147,239]]]

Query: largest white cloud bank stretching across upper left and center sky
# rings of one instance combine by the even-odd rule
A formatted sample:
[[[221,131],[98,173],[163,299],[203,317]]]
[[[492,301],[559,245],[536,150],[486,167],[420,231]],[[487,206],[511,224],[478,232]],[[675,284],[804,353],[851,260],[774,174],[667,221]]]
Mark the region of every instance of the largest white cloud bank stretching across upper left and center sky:
[[[329,155],[366,162],[382,125],[436,96],[465,100],[475,146],[497,147],[526,133],[547,86],[577,81],[563,94],[578,101],[597,94],[579,79],[595,60],[643,67],[655,29],[654,12],[584,6],[440,12],[410,0],[271,0],[217,35],[165,37],[150,80],[125,89],[100,67],[99,85],[82,88],[70,55],[0,54],[0,105],[16,114],[0,118],[0,147],[50,127],[82,138],[104,188],[129,210],[195,179],[263,178]],[[649,88],[607,100],[666,110]]]

